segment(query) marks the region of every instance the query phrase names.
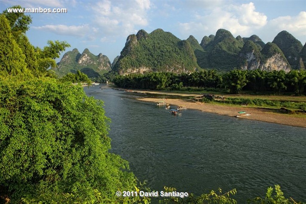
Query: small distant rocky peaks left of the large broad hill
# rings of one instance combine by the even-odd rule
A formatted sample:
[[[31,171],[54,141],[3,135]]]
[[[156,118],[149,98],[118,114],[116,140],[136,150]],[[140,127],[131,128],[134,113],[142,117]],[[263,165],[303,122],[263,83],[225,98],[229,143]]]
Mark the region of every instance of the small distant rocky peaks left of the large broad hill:
[[[99,77],[103,73],[111,70],[110,60],[106,55],[92,54],[87,48],[80,54],[75,48],[64,54],[58,67],[54,71],[59,77],[65,76],[67,73],[76,73],[77,70],[88,75],[88,77]]]

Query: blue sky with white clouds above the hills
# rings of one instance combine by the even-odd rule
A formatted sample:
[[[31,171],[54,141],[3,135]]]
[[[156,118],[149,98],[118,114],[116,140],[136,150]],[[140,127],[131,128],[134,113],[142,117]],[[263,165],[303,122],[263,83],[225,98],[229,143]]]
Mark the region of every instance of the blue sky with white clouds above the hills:
[[[0,0],[0,11],[14,5],[67,9],[67,13],[28,13],[32,24],[26,34],[34,46],[47,46],[48,40],[66,41],[71,45],[66,51],[77,48],[82,53],[88,48],[111,62],[120,55],[128,35],[140,29],[150,33],[162,28],[182,40],[193,35],[199,43],[219,28],[234,37],[255,34],[264,43],[286,30],[303,45],[306,42],[305,0]]]

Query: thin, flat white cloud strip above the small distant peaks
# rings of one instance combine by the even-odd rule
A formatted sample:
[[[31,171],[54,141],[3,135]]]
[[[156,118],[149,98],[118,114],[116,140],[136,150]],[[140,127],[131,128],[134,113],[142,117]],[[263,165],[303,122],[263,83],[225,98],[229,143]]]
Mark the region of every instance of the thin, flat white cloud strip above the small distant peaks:
[[[88,30],[92,30],[89,25],[80,25],[80,26],[67,26],[67,25],[44,25],[44,26],[33,26],[31,28],[43,31],[49,31],[56,33],[58,35],[70,35],[77,37],[84,37]]]

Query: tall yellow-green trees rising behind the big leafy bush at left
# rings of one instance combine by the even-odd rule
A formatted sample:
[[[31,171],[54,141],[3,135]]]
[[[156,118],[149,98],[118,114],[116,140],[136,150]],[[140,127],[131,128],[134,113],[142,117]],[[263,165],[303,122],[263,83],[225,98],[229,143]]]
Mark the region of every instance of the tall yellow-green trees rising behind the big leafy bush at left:
[[[17,17],[14,17],[14,16]],[[16,19],[12,24],[9,19]],[[19,22],[21,21],[21,22]],[[43,49],[32,46],[25,35],[28,25],[20,13],[0,14],[0,72],[4,75],[43,76],[50,75],[49,67],[56,66],[55,58],[69,46],[66,42],[48,41]],[[22,26],[16,26],[22,24]],[[10,25],[13,27],[11,28]],[[20,31],[17,28],[21,27]]]

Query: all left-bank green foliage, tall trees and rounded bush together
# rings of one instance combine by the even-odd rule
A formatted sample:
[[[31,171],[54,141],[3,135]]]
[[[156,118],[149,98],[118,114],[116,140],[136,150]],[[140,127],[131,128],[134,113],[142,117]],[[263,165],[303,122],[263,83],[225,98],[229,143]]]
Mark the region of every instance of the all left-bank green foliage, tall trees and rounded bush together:
[[[0,202],[139,201],[114,196],[135,190],[137,182],[128,162],[108,152],[103,102],[47,70],[69,45],[32,46],[25,35],[30,21],[24,19],[0,15]],[[65,80],[88,78],[78,72]]]

